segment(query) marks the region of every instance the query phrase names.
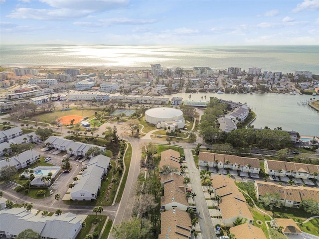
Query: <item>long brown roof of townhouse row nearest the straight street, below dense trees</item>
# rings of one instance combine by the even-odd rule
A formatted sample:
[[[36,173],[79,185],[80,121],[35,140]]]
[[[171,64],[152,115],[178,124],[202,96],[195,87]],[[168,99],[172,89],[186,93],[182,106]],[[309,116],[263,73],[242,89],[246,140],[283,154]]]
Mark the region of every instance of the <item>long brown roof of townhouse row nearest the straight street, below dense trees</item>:
[[[198,160],[207,162],[214,162],[215,160],[217,160],[217,162],[219,163],[226,163],[226,160],[228,160],[231,164],[237,164],[241,166],[250,164],[253,168],[260,168],[258,158],[246,158],[236,155],[199,152]]]

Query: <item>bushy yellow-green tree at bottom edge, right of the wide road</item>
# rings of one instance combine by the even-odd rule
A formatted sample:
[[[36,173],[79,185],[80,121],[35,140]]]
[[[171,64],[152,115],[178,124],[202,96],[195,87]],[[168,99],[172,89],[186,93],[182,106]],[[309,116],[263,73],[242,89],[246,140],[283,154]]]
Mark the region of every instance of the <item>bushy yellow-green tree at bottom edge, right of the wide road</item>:
[[[150,238],[152,227],[151,221],[145,218],[132,218],[116,225],[112,234],[115,239],[146,239]]]

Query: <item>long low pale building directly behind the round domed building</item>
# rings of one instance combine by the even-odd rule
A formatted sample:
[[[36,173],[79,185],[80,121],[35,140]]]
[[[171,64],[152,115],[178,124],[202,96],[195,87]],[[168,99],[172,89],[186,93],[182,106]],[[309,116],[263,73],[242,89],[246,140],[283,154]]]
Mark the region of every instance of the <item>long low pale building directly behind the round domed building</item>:
[[[158,97],[112,96],[111,100],[141,105],[167,105],[169,103],[169,98]]]

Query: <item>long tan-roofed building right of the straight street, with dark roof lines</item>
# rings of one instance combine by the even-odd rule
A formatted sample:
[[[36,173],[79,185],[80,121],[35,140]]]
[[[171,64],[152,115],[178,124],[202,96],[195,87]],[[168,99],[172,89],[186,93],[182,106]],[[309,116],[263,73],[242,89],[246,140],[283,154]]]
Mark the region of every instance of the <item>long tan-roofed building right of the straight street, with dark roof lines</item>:
[[[246,204],[246,199],[238,190],[235,182],[226,175],[218,175],[212,180],[215,195],[221,197],[219,211],[226,227],[233,227],[237,218],[253,224],[253,216]]]

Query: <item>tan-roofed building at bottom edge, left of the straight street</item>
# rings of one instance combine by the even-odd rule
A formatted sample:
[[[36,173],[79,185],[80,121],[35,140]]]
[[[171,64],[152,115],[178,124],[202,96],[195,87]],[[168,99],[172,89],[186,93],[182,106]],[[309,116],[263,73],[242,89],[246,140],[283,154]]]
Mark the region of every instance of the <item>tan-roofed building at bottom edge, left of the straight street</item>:
[[[168,210],[160,214],[159,239],[190,239],[191,220],[189,213],[178,209]]]

